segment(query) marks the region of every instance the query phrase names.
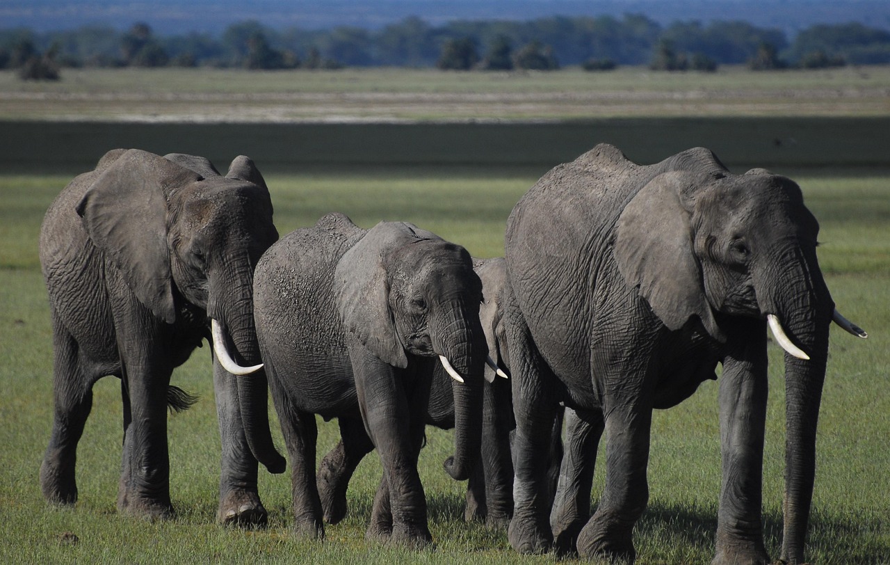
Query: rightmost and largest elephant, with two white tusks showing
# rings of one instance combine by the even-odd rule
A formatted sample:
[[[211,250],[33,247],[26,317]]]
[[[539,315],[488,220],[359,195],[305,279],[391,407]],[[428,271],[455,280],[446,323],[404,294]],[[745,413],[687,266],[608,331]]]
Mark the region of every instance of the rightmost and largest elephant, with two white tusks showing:
[[[866,335],[837,313],[816,259],[818,230],[792,180],[762,168],[732,174],[704,148],[638,165],[602,143],[522,196],[505,234],[514,549],[548,551],[555,536],[583,557],[634,561],[652,410],[716,379],[719,363],[713,563],[769,562],[761,516],[769,326],[786,351],[781,559],[804,560],[829,325]],[[548,514],[539,454],[561,402],[571,411],[566,465]],[[587,520],[603,432],[605,486]]]

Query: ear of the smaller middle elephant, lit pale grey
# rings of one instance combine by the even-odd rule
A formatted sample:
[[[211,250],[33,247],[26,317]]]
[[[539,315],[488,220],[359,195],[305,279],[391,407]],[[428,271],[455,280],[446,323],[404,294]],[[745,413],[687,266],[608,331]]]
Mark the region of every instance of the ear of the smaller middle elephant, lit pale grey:
[[[386,257],[404,244],[401,229],[380,223],[368,230],[337,263],[335,292],[340,318],[368,350],[386,364],[408,366],[389,306]]]

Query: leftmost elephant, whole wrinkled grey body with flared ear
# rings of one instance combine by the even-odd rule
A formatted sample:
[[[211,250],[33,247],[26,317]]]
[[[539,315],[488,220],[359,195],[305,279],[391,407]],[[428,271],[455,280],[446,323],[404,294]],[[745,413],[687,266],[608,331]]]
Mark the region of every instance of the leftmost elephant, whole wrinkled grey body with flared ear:
[[[263,176],[243,156],[220,176],[199,157],[109,151],[61,192],[40,233],[53,321],[53,434],[40,468],[49,501],[77,501],[77,441],[93,383],[115,375],[124,402],[118,511],[173,513],[166,409],[168,401],[182,409],[193,400],[169,386],[171,373],[209,339],[210,318],[236,361],[259,363],[253,268],[277,239]],[[262,371],[240,378],[265,387]],[[264,522],[239,409],[264,413],[265,395],[239,397],[235,377],[218,361],[214,388],[223,438],[219,519]],[[259,425],[265,435],[256,434],[255,451],[283,471],[268,421]]]

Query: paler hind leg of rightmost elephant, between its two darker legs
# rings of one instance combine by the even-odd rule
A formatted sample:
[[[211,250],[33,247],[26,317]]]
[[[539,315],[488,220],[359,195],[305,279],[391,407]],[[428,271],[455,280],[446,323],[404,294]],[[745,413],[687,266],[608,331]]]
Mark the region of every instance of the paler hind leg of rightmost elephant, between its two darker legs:
[[[565,449],[550,526],[558,553],[577,551],[578,534],[590,518],[596,450],[603,435],[603,412],[565,409]]]

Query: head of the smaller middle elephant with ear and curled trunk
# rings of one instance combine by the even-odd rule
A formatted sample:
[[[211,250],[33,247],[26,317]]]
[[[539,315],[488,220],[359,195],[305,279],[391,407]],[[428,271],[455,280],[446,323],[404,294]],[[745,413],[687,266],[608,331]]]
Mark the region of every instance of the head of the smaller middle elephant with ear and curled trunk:
[[[336,266],[336,296],[347,332],[387,364],[438,356],[462,384],[455,394],[456,453],[445,463],[466,479],[481,443],[481,282],[467,251],[403,223],[381,223]]]

